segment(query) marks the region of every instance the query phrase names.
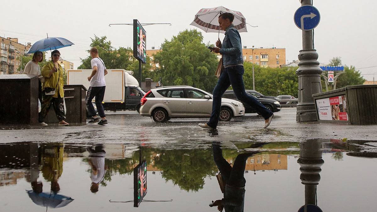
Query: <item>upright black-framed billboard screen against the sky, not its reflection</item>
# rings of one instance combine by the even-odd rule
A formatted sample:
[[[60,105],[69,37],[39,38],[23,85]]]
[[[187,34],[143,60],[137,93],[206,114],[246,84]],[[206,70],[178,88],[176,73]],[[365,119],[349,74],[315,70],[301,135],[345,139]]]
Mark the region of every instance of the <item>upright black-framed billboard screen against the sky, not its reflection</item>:
[[[147,58],[147,35],[137,19],[133,19],[133,57],[142,63]]]

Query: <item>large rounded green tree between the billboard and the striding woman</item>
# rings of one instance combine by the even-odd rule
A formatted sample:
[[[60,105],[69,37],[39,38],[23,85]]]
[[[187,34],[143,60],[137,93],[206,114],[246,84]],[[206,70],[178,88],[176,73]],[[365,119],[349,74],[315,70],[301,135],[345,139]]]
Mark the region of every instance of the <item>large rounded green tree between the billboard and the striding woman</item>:
[[[208,45],[208,44],[207,44]],[[159,63],[154,80],[162,78],[164,86],[189,85],[212,91],[216,84],[214,76],[218,59],[203,43],[203,35],[195,29],[179,32],[161,45],[155,54]]]

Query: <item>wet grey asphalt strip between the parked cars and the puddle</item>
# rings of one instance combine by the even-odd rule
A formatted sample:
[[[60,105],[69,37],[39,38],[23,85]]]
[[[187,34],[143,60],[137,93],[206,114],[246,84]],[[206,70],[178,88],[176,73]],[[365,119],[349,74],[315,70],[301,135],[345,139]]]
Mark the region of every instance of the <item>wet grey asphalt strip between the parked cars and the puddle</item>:
[[[1,130],[0,143],[18,141],[41,142],[93,142],[93,143],[140,143],[156,147],[175,145],[198,147],[202,141],[222,142],[285,142],[303,141],[313,138],[340,140],[377,140],[375,125],[329,124],[318,122],[296,122],[296,108],[283,108],[276,112],[271,125],[263,129],[264,120],[257,114],[247,114],[220,122],[217,134],[202,129],[198,123],[207,118],[176,118],[166,123],[156,123],[150,117],[142,117],[135,111],[107,112],[106,126],[87,124],[84,126],[59,127],[50,125],[38,129]]]

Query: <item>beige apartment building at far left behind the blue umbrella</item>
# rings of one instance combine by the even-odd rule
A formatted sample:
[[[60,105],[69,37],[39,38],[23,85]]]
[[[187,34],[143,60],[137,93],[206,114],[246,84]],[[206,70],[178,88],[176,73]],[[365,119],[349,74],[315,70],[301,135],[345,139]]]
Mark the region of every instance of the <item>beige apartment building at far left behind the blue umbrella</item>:
[[[21,56],[26,55],[26,52],[31,47],[31,43],[25,46],[18,43],[18,38],[0,37],[0,39],[0,74],[22,73],[22,71],[17,71],[17,69],[21,66]]]

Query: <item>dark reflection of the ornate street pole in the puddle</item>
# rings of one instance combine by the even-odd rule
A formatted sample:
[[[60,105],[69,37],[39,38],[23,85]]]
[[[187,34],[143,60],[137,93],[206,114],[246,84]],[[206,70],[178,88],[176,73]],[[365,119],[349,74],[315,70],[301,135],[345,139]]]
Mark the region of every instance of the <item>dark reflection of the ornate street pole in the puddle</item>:
[[[300,180],[305,185],[305,206],[311,204],[313,207],[317,207],[317,185],[321,179],[319,172],[321,172],[321,166],[324,163],[321,143],[318,140],[308,140],[301,143],[300,158],[297,163],[300,164]],[[313,211],[322,210],[317,207],[317,210]]]

